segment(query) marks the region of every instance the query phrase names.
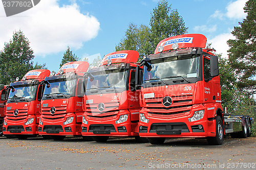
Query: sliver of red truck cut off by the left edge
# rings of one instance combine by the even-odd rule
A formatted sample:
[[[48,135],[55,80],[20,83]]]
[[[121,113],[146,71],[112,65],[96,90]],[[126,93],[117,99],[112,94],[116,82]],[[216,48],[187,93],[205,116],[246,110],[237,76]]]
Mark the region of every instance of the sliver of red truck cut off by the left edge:
[[[5,117],[5,104],[8,98],[8,91],[5,85],[0,84],[0,136],[3,136],[3,124]]]

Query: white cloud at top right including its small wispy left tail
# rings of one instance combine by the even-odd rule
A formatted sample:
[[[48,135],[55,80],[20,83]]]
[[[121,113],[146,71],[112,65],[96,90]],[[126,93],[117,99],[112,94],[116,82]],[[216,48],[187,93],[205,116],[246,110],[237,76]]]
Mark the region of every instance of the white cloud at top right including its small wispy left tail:
[[[246,13],[244,12],[245,3],[248,0],[237,0],[231,2],[226,7],[226,12],[222,12],[220,10],[216,10],[214,14],[210,15],[212,18],[218,18],[223,20],[225,17],[229,19],[243,19],[246,17]]]

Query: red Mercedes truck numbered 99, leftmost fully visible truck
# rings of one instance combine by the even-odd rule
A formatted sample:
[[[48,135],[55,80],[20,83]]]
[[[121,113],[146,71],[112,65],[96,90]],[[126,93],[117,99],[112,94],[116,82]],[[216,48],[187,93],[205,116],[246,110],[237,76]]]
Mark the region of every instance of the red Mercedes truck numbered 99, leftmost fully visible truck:
[[[30,70],[22,80],[16,78],[6,103],[3,133],[7,138],[26,139],[38,134],[40,102],[43,86],[40,84],[50,75],[48,69]]]

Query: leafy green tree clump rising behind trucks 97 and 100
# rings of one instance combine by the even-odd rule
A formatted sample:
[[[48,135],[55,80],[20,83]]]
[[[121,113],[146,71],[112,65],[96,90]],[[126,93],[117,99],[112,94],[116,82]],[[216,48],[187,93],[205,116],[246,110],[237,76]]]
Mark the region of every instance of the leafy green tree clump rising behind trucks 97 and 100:
[[[165,0],[159,2],[153,9],[150,27],[145,25],[137,27],[134,23],[130,23],[124,38],[116,46],[116,51],[136,50],[141,60],[144,55],[154,54],[160,40],[187,33],[182,17],[177,10],[172,10]]]

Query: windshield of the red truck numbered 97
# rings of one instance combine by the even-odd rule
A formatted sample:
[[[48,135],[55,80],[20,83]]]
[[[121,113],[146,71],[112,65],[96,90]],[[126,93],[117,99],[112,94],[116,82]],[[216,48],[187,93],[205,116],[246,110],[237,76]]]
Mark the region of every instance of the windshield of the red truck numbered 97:
[[[91,82],[90,78],[87,81],[87,91],[94,89],[98,92],[109,91],[122,91],[126,87],[127,70],[115,69],[115,70],[104,70],[99,72],[91,72],[94,80]],[[111,88],[112,90],[110,90]]]

